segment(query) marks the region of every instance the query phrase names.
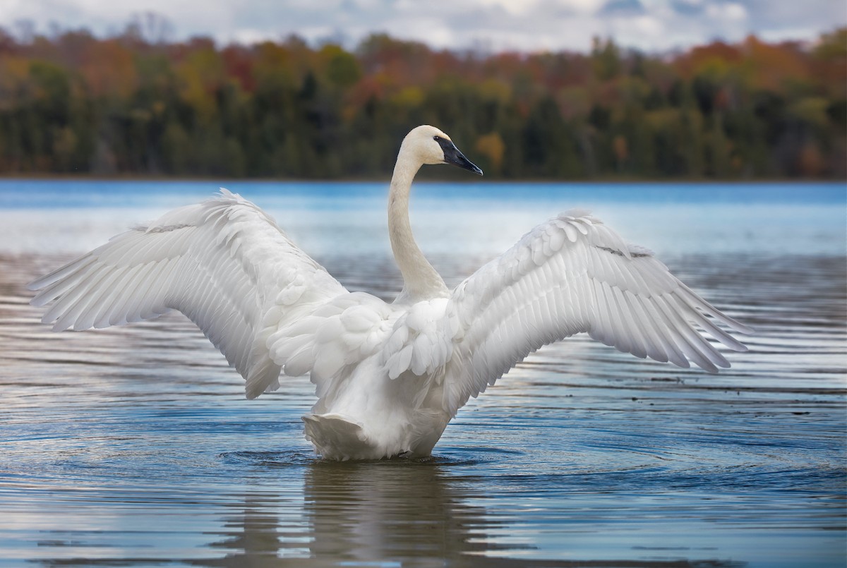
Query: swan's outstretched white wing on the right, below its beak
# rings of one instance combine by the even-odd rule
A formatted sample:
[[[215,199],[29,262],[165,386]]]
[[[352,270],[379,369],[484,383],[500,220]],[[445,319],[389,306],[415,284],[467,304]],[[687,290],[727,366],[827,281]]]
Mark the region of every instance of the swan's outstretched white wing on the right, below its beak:
[[[699,330],[731,350],[746,348],[706,316],[750,333],[650,251],[627,245],[589,215],[562,214],[453,292],[448,328],[457,331],[446,368],[446,408],[455,414],[530,352],[581,332],[634,356],[679,367],[693,361],[717,372],[729,363]]]

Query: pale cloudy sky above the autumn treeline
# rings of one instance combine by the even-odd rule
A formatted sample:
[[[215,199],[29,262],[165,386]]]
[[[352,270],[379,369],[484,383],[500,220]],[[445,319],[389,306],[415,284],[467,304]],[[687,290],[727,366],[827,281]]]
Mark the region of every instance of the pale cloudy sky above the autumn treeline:
[[[662,52],[713,39],[814,40],[847,25],[844,0],[0,0],[0,26],[19,33],[28,21],[123,30],[137,14],[169,20],[172,39],[213,36],[220,43],[296,33],[353,46],[387,32],[434,47],[499,51],[590,48],[592,36]]]

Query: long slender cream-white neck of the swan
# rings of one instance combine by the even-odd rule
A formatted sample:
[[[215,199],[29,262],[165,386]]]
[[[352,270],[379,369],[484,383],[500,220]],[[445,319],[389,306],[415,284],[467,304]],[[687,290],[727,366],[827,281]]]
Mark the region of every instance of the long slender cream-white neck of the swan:
[[[409,190],[419,168],[419,163],[415,163],[401,151],[394,167],[394,175],[391,176],[388,233],[394,260],[403,275],[403,291],[398,296],[398,301],[420,301],[448,295],[444,280],[429,264],[415,242],[412,225],[409,223]]]

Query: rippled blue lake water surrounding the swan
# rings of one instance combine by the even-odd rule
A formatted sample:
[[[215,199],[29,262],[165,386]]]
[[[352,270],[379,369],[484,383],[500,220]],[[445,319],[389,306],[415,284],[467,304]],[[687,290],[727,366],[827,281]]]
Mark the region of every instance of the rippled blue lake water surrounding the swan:
[[[307,379],[245,400],[179,315],[53,334],[25,283],[226,185],[351,290],[400,286],[384,184],[0,180],[0,566],[839,566],[844,184],[421,184],[457,284],[589,208],[756,328],[719,375],[582,337],[459,411],[428,460],[332,463]]]

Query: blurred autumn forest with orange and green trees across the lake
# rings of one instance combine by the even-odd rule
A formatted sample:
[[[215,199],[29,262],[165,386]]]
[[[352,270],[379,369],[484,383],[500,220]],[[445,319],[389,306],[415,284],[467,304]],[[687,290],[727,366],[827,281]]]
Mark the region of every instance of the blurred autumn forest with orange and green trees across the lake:
[[[495,179],[847,179],[847,29],[666,54],[0,29],[0,175],[385,179],[418,124]]]

